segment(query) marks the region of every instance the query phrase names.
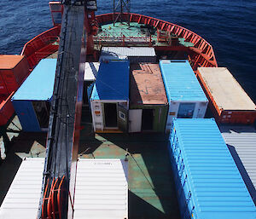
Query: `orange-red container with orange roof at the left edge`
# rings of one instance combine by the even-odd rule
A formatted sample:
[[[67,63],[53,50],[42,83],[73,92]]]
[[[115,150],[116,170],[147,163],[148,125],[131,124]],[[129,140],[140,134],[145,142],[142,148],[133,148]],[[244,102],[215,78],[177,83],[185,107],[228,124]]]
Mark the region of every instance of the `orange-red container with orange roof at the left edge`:
[[[0,55],[0,95],[9,95],[29,74],[24,55]]]

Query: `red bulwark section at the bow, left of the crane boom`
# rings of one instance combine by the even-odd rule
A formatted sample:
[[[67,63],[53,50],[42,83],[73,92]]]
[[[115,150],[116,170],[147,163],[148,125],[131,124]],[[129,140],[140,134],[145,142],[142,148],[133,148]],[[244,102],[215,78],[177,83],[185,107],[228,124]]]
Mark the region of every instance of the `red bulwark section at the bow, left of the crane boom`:
[[[38,64],[41,59],[55,53],[58,50],[59,34],[61,26],[55,26],[25,44],[21,55],[25,55],[30,68]]]

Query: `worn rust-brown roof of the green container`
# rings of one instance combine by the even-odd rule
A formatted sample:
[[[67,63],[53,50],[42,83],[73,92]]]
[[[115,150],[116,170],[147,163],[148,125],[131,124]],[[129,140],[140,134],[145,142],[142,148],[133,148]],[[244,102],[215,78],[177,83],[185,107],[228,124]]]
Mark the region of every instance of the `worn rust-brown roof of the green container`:
[[[166,104],[166,90],[158,64],[131,65],[131,105]]]

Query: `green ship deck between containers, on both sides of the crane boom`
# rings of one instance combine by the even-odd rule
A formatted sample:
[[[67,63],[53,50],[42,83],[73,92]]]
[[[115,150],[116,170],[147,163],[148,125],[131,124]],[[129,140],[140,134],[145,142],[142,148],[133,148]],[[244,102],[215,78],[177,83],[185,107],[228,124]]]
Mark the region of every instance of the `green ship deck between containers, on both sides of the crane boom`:
[[[166,135],[94,134],[88,112],[81,123],[79,158],[124,159],[128,151],[129,218],[180,218]],[[0,205],[22,158],[45,156],[46,133],[10,136],[7,158],[0,164]]]

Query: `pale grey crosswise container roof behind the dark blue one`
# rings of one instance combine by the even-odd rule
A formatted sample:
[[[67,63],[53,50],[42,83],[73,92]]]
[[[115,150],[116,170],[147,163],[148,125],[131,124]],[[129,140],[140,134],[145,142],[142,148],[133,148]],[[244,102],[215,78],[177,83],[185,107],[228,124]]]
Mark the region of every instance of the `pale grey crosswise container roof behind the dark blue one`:
[[[155,56],[153,47],[102,47],[102,55]]]

